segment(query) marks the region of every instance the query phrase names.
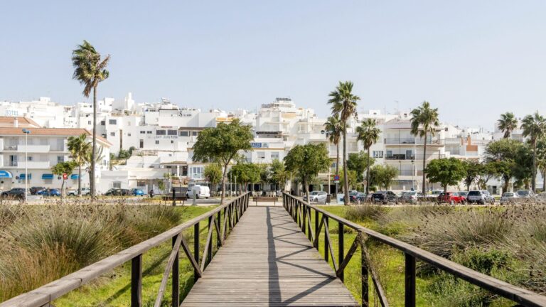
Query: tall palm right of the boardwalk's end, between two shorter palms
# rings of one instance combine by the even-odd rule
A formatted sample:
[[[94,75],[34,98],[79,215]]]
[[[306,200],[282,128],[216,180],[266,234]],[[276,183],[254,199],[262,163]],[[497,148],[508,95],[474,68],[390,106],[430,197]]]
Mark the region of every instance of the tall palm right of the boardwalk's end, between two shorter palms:
[[[328,104],[331,104],[331,110],[334,117],[338,117],[341,122],[341,131],[343,132],[343,178],[347,178],[347,121],[350,117],[356,117],[356,104],[360,97],[353,95],[353,82],[339,82],[336,90],[330,92],[331,98]],[[343,187],[343,203],[349,204],[349,183],[345,181]]]

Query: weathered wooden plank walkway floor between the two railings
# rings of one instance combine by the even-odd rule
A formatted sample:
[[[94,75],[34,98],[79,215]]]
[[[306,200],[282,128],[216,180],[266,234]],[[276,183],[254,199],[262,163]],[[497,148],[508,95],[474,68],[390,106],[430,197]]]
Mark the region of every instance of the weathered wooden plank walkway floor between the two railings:
[[[282,207],[250,207],[181,306],[359,306]]]

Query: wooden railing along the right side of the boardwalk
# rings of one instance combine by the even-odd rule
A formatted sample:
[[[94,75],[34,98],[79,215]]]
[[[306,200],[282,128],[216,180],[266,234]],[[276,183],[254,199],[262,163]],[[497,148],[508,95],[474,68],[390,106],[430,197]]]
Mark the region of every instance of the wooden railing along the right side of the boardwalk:
[[[292,195],[283,193],[283,205],[289,214],[294,218],[294,221],[298,223],[301,230],[309,237],[309,240],[313,242],[314,247],[319,249],[319,234],[324,227],[324,259],[328,262],[329,257],[332,258],[333,267],[341,281],[343,281],[343,271],[349,263],[351,257],[360,246],[360,250],[363,252],[361,257],[361,275],[362,275],[362,305],[368,306],[370,291],[368,289],[368,279],[371,275],[375,293],[380,301],[381,306],[388,306],[385,293],[382,290],[380,283],[378,282],[378,274],[371,266],[370,257],[365,247],[365,239],[375,239],[378,242],[389,245],[398,249],[404,253],[405,256],[405,306],[415,306],[415,262],[417,259],[427,264],[431,264],[441,271],[445,271],[448,274],[456,276],[460,279],[468,281],[481,289],[491,291],[499,296],[508,298],[515,303],[519,303],[522,306],[546,306],[546,296],[541,296],[532,291],[513,286],[505,281],[495,279],[486,274],[482,274],[478,271],[451,262],[444,257],[437,256],[431,252],[427,252],[419,247],[414,247],[411,244],[407,244],[398,239],[382,235],[379,232],[375,232],[366,227],[360,226],[354,222],[333,215],[326,210],[322,210],[314,205],[295,198]],[[311,224],[311,215],[314,212],[314,229]],[[333,220],[338,223],[338,258],[335,258],[335,253],[331,244],[330,234],[328,232],[328,223]],[[353,244],[345,254],[344,251],[344,227],[349,227],[355,230],[358,235],[355,237]],[[337,260],[337,261],[336,261]]]

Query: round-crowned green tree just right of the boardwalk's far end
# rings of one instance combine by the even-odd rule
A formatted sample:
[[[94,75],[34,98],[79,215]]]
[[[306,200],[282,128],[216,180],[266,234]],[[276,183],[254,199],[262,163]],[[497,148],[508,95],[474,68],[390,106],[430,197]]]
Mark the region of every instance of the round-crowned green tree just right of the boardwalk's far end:
[[[296,145],[284,157],[284,167],[301,180],[309,200],[309,184],[330,167],[328,149],[325,144]]]

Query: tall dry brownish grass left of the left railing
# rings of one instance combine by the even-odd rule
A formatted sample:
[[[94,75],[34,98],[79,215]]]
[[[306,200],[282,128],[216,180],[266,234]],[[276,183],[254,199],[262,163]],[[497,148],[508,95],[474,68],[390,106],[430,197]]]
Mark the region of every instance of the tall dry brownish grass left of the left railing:
[[[0,301],[178,224],[165,205],[0,205]]]

